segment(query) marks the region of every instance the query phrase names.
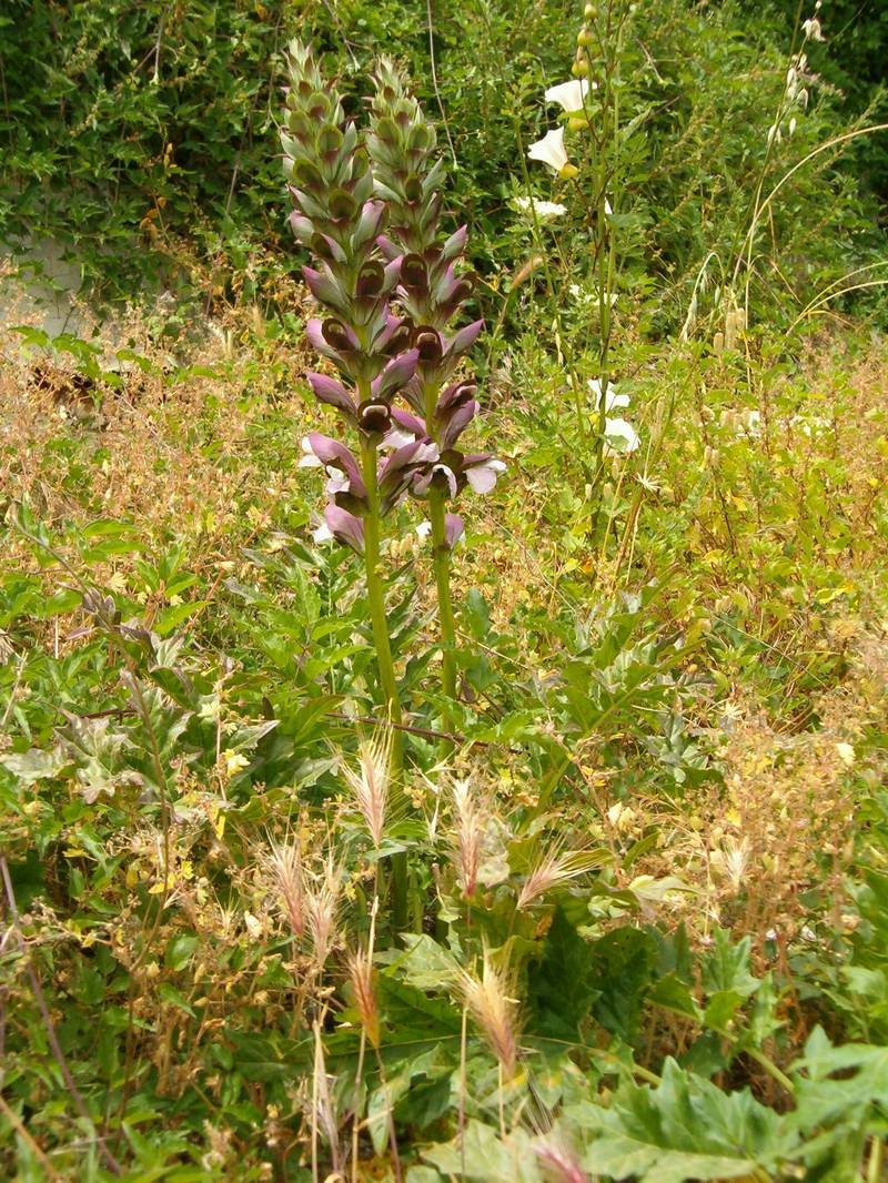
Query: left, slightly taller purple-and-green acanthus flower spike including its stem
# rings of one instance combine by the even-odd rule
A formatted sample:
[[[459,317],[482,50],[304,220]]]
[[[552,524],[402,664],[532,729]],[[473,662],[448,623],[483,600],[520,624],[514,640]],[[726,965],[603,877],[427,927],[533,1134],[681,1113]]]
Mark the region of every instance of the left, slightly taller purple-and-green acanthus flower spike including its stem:
[[[403,767],[401,707],[388,635],[380,571],[381,522],[404,496],[414,458],[427,463],[427,446],[413,440],[411,455],[395,452],[380,463],[379,448],[391,428],[391,402],[416,373],[412,327],[395,317],[391,298],[401,273],[401,254],[382,252],[378,239],[387,209],[374,192],[369,159],[354,123],[347,122],[339,93],[321,75],[311,51],[291,41],[287,51],[289,88],[282,121],[284,174],[295,211],[296,240],[313,256],[305,284],[324,310],[307,336],[339,370],[339,377],[311,371],[318,402],[334,407],[353,429],[358,454],[345,444],[311,432],[303,442],[305,466],[327,473],[324,524],[315,538],[335,538],[363,556],[366,613],[377,649],[379,690],[392,732],[391,771]],[[437,454],[437,451],[436,451]],[[397,459],[395,459],[397,458]],[[406,925],[406,856],[392,859],[393,926]]]

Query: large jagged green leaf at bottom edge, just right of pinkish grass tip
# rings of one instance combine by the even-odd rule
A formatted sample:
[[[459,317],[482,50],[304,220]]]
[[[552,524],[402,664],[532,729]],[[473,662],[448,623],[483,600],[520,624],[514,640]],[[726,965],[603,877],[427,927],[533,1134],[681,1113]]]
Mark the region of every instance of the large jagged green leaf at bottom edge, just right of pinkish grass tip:
[[[671,1059],[656,1088],[625,1082],[609,1108],[583,1101],[566,1116],[598,1133],[584,1156],[587,1170],[638,1183],[774,1171],[799,1142],[791,1117],[760,1105],[748,1090],[723,1093]]]

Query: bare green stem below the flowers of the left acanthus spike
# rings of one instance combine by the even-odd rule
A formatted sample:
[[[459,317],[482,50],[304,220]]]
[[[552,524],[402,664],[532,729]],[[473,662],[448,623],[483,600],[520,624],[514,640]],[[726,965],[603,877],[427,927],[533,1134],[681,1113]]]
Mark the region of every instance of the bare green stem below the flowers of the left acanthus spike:
[[[388,636],[382,576],[379,569],[380,512],[379,481],[377,478],[378,444],[367,437],[361,438],[361,470],[367,489],[369,512],[363,518],[363,563],[367,573],[367,605],[369,607],[373,641],[377,647],[377,666],[379,670],[379,687],[392,728],[392,764],[391,777],[395,791],[404,778],[404,732],[399,724],[403,720],[401,704],[398,696],[398,680],[394,675],[392,642]],[[397,932],[407,924],[407,855],[399,852],[392,855],[392,925]]]

